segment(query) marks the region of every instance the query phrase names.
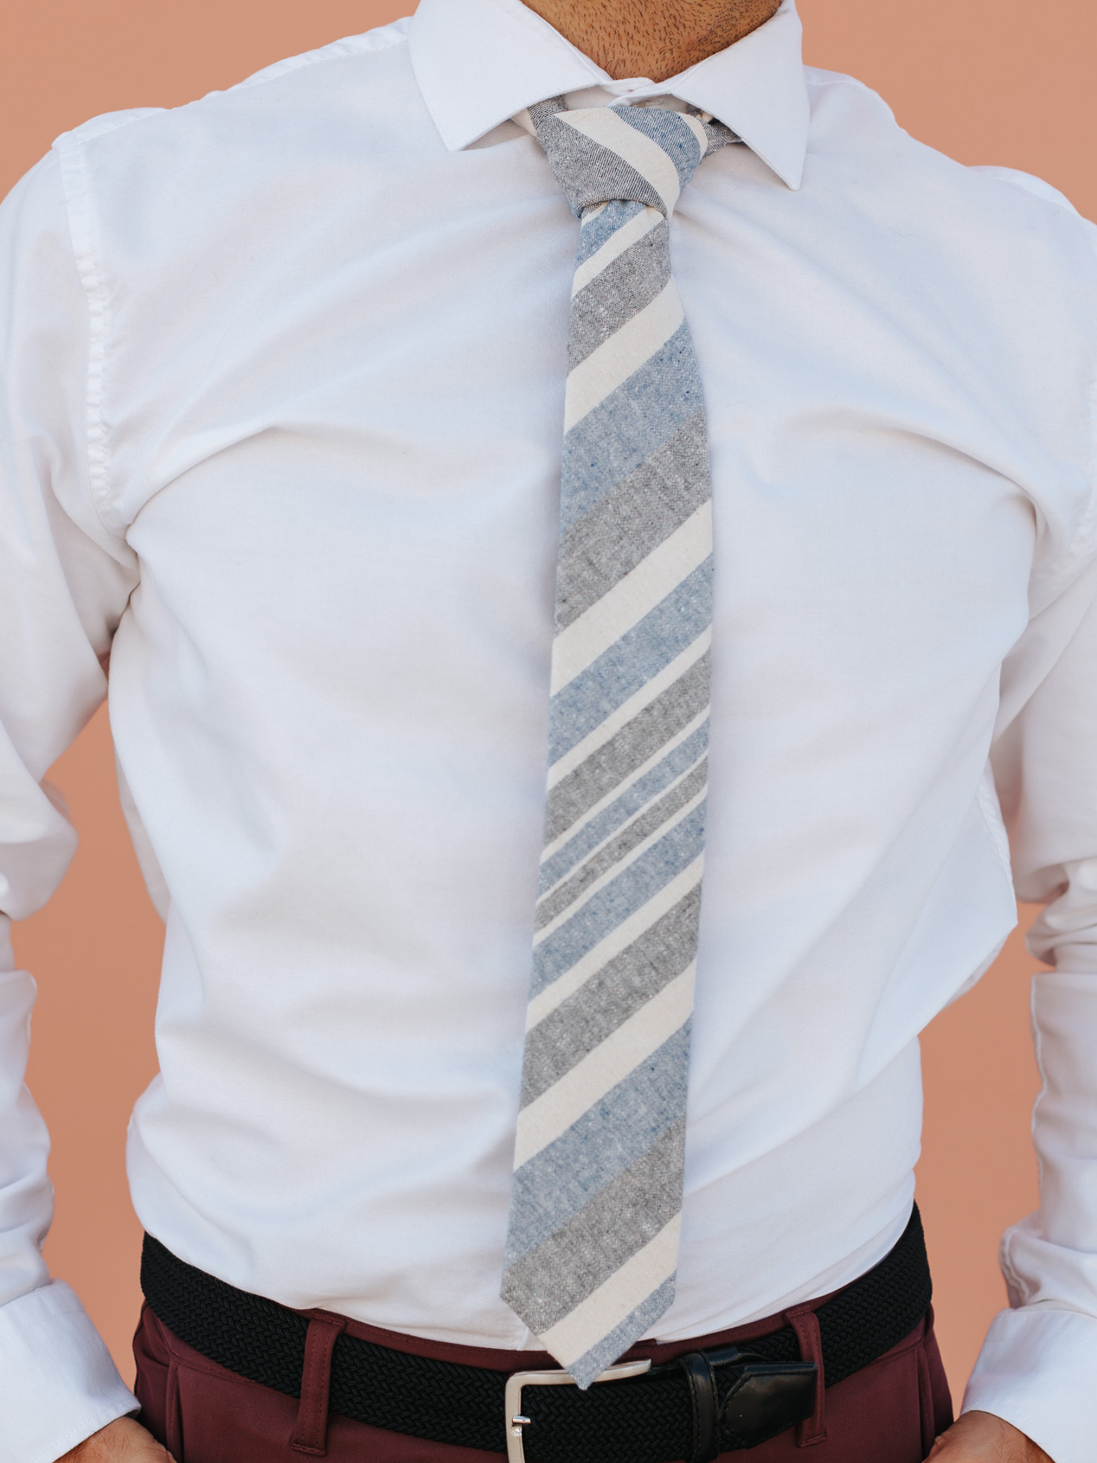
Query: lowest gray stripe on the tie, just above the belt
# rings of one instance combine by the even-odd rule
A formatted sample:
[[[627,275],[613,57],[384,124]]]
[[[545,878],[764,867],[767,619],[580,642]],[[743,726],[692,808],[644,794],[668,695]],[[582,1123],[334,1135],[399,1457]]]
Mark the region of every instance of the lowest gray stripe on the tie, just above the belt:
[[[534,1296],[522,1320],[537,1336],[569,1315],[649,1244],[682,1208],[686,1119],[679,1118],[630,1167],[503,1276],[503,1299]],[[633,1226],[622,1214],[636,1214]]]

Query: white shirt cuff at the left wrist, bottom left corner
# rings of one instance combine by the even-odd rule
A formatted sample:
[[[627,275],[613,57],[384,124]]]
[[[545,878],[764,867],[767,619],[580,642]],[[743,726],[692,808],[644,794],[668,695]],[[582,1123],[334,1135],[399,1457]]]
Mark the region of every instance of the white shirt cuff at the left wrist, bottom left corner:
[[[136,1410],[70,1286],[54,1280],[0,1306],[0,1459],[56,1463]]]

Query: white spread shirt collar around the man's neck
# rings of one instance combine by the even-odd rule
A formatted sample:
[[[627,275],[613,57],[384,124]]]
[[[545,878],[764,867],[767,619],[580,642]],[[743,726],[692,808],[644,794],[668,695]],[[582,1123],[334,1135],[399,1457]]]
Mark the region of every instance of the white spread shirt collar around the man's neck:
[[[807,88],[796,0],[742,41],[627,98],[679,97],[736,132],[788,187],[807,151]],[[608,75],[522,0],[420,0],[408,28],[423,99],[456,152],[546,97],[610,82]],[[617,83],[611,83],[617,86]]]

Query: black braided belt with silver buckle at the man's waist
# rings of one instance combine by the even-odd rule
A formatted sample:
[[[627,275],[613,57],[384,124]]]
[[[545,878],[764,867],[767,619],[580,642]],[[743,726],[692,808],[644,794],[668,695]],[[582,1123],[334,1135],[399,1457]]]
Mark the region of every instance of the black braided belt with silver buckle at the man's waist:
[[[140,1283],[152,1311],[209,1361],[298,1397],[309,1317],[237,1290],[145,1236]],[[867,1274],[815,1312],[828,1387],[897,1346],[930,1302],[917,1208],[902,1238]],[[749,1448],[812,1416],[816,1366],[791,1325],[742,1346],[693,1352],[645,1375],[595,1384],[527,1384],[519,1441],[508,1444],[508,1374],[392,1350],[354,1336],[335,1342],[329,1410],[357,1422],[527,1463],[705,1463]],[[513,1387],[512,1387],[513,1391]]]

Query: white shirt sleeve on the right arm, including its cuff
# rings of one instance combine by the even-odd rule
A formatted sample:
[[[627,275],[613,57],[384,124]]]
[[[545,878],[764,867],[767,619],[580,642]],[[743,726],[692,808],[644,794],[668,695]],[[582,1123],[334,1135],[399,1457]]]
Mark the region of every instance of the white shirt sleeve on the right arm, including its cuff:
[[[1084,524],[1079,553],[1090,552]],[[1055,1463],[1097,1435],[1097,563],[1033,616],[1002,679],[995,777],[1018,895],[1044,906],[1030,949],[1043,1086],[1033,1116],[1040,1208],[1002,1238],[999,1312],[964,1410],[1006,1418]]]

